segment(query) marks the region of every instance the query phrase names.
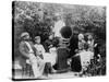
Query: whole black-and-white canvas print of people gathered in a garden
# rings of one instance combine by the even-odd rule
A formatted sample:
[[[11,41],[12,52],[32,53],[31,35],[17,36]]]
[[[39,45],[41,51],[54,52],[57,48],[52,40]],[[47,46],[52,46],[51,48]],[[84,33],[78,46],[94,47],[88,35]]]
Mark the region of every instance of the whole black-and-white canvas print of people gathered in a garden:
[[[102,77],[104,5],[12,1],[12,80]]]

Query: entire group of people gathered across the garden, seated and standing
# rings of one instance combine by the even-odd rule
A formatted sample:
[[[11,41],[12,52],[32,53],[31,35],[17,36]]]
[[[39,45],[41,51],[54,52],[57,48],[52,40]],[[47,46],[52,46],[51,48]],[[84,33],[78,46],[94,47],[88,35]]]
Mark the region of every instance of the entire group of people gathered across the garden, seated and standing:
[[[53,34],[51,34],[49,39],[41,45],[40,36],[36,36],[34,38],[35,43],[33,43],[29,34],[24,32],[21,34],[20,52],[25,59],[25,62],[31,62],[34,77],[37,79],[44,75],[47,63],[50,65],[48,68],[50,72],[56,72],[64,68],[64,65],[70,65],[72,71],[80,72],[86,69],[89,60],[93,59],[95,45],[92,35],[78,34],[77,36],[71,37],[66,43],[62,43],[59,37],[53,39]],[[70,44],[68,45],[68,43]]]

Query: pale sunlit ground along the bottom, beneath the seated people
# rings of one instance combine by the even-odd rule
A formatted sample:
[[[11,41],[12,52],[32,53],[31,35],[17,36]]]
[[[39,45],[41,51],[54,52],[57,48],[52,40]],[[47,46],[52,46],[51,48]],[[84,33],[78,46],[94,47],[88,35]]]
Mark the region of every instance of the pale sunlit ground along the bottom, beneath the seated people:
[[[66,78],[77,78],[78,73],[77,72],[63,72],[63,73],[52,73],[47,75],[43,75],[39,79],[66,79]],[[14,79],[35,79],[34,75],[23,75],[21,71],[15,72]]]

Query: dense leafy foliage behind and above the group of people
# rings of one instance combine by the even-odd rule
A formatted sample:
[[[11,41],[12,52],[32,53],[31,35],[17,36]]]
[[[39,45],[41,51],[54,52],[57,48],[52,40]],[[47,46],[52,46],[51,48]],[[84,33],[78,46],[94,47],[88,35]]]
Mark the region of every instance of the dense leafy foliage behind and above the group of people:
[[[14,51],[17,56],[20,35],[27,31],[32,38],[40,35],[41,40],[48,38],[51,26],[60,13],[72,32],[93,33],[100,43],[99,50],[106,56],[106,7],[71,5],[13,1]]]

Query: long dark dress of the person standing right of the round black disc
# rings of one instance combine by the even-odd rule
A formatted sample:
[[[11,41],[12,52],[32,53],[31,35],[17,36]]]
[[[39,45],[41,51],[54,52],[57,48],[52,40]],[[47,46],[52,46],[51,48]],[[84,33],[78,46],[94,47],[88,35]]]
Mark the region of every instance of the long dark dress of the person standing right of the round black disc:
[[[76,35],[73,35],[71,40],[70,40],[70,57],[72,57],[72,62],[71,62],[71,69],[72,71],[80,72],[82,70],[81,66],[81,58],[80,56],[75,56],[75,49],[78,49],[78,39]],[[75,56],[75,57],[74,57]]]

